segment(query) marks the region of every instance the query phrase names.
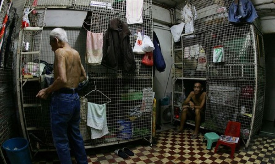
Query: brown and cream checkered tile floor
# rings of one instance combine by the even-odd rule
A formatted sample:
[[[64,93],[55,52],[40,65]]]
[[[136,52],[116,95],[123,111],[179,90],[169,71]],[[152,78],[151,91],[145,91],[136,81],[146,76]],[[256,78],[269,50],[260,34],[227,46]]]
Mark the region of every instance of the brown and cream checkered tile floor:
[[[206,149],[206,142],[202,143],[203,134],[197,139],[190,139],[192,130],[185,129],[183,133],[173,135],[176,130],[170,129],[157,132],[155,144],[150,147],[146,140],[138,140],[124,144],[110,145],[87,149],[89,164],[174,164],[174,163],[209,163],[209,164],[274,164],[275,163],[275,137],[255,136],[248,149],[235,151],[234,159],[230,158],[230,148],[220,146],[214,153],[215,143],[211,150]],[[135,154],[123,159],[114,153],[116,149],[127,146]],[[38,153],[33,164],[58,164],[56,153]],[[74,159],[73,159],[74,161]]]

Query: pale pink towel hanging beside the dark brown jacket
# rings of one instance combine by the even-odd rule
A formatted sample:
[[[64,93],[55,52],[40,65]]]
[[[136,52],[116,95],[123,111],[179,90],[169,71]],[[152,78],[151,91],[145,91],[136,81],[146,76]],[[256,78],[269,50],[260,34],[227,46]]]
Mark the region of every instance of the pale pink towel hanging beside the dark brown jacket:
[[[87,31],[85,62],[91,65],[100,65],[102,60],[103,33]]]

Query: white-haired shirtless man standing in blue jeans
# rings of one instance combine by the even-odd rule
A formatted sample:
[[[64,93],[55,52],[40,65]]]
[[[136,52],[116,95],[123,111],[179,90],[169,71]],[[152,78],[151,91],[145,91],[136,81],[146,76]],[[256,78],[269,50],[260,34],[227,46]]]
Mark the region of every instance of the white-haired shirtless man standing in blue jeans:
[[[80,101],[78,84],[87,79],[79,53],[68,44],[67,34],[62,28],[50,32],[50,45],[54,52],[54,81],[41,89],[36,97],[46,99],[52,94],[50,120],[53,142],[61,164],[72,164],[71,149],[78,164],[87,164],[83,138],[79,131]],[[70,137],[69,137],[70,136]]]

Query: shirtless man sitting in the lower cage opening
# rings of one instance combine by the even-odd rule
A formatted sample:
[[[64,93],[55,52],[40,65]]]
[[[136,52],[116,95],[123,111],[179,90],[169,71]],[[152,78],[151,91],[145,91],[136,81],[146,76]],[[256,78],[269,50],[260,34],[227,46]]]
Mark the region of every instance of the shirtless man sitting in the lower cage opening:
[[[205,97],[206,92],[203,92],[203,86],[200,82],[195,82],[194,91],[190,92],[188,97],[182,103],[182,111],[180,116],[180,127],[174,132],[178,134],[183,132],[186,119],[195,119],[195,131],[191,139],[196,139],[199,135],[199,127],[201,120],[205,117]]]

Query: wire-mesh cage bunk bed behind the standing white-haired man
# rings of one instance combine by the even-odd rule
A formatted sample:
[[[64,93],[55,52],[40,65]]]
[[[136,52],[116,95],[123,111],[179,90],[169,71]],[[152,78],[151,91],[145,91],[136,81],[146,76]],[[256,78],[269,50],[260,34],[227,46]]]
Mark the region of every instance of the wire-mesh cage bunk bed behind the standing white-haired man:
[[[85,148],[100,147],[106,145],[119,144],[133,140],[145,139],[152,143],[152,108],[153,108],[153,73],[152,67],[141,64],[142,55],[134,55],[136,69],[125,74],[121,67],[114,71],[102,65],[90,65],[85,61],[87,31],[95,33],[104,33],[107,31],[108,23],[111,19],[118,18],[126,24],[126,2],[109,1],[109,0],[77,0],[77,1],[38,1],[35,9],[47,13],[51,8],[66,10],[87,11],[86,18],[83,18],[83,26],[62,27],[66,30],[68,41],[72,48],[76,49],[81,55],[82,64],[89,77],[89,83],[85,89],[80,91],[80,97],[90,91],[97,90],[85,96],[87,102],[104,104],[106,102],[106,118],[109,133],[101,138],[91,139],[91,129],[87,126],[87,103],[81,101],[81,122],[80,132],[82,133]],[[62,3],[61,3],[62,2]],[[24,8],[33,6],[33,0],[27,0]],[[47,14],[45,14],[47,17]],[[85,19],[85,20],[84,20]],[[58,21],[58,20],[57,20]],[[41,36],[41,46],[39,50],[40,63],[43,61],[46,65],[53,64],[54,55],[49,45],[49,33],[55,27],[43,25],[43,35]],[[143,2],[143,24],[128,24],[131,46],[136,41],[135,34],[142,32],[152,39],[153,36],[153,19],[152,19],[152,1],[144,0]],[[23,29],[24,30],[24,29]],[[21,36],[22,37],[22,36]],[[21,45],[23,43],[21,42]],[[22,53],[19,52],[22,56]],[[17,65],[20,72],[20,65]],[[20,74],[20,73],[19,73]],[[41,74],[39,83],[36,87],[23,89],[19,95],[23,100],[31,95],[37,94],[38,90],[47,85],[46,78],[50,74]],[[44,83],[41,83],[43,82]],[[20,80],[18,81],[20,84]],[[34,84],[29,84],[34,86]],[[20,86],[20,85],[19,85]],[[28,86],[28,83],[25,84]],[[24,86],[24,87],[25,87]],[[18,89],[21,89],[19,87]],[[103,93],[103,94],[102,94]],[[108,99],[108,98],[109,99]],[[109,100],[111,100],[109,102]],[[22,104],[21,101],[18,102]],[[21,121],[25,136],[28,138],[32,151],[49,151],[54,150],[49,117],[50,100],[39,101],[39,110],[37,108],[28,109],[22,105]],[[34,118],[42,119],[34,119]],[[28,128],[26,123],[32,120],[36,128]]]

